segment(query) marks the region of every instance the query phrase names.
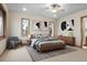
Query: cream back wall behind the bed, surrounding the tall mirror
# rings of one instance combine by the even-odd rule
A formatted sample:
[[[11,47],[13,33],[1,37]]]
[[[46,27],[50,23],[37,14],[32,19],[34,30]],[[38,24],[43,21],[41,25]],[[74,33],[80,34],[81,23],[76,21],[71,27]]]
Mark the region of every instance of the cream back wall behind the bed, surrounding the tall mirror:
[[[21,18],[30,19],[30,34],[39,33],[39,31],[33,31],[33,23],[35,21],[48,21],[54,22],[54,19],[37,17],[37,15],[30,15],[29,13],[18,13],[18,12],[10,12],[10,36],[19,36],[21,37]],[[56,31],[56,30],[55,30]],[[41,31],[42,32],[42,31]],[[43,31],[42,33],[45,33]]]

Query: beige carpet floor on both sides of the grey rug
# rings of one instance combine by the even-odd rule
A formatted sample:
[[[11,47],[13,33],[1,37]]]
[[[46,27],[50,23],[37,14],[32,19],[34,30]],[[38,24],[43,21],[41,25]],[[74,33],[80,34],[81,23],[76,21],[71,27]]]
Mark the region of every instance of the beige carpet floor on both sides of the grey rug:
[[[53,56],[39,62],[87,62],[87,50],[74,47],[77,51]],[[26,46],[22,46],[17,50],[6,51],[0,56],[0,62],[32,62],[30,54],[26,51]]]

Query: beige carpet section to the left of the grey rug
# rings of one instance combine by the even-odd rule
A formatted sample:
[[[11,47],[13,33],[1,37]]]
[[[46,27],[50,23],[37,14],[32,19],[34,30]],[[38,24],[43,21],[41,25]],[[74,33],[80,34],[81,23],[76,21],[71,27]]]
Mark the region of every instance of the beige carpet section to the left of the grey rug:
[[[26,46],[22,46],[15,50],[7,50],[0,56],[0,62],[32,62],[32,58],[26,51]]]

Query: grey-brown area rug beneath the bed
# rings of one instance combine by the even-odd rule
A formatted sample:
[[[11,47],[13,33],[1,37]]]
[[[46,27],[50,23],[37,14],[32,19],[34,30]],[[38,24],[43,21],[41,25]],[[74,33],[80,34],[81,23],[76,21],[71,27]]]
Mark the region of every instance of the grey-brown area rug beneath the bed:
[[[28,46],[26,50],[28,50],[30,56],[32,57],[33,62],[37,62],[37,61],[45,59],[48,57],[58,56],[62,54],[77,51],[76,48],[68,47],[68,46],[66,46],[63,50],[50,51],[50,52],[45,52],[45,53],[39,53],[34,48],[32,48],[31,46]]]

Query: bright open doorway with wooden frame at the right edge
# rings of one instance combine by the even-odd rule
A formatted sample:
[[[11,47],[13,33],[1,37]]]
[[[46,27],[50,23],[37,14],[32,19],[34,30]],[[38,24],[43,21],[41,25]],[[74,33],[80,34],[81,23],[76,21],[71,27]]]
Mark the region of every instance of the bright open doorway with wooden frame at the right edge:
[[[87,15],[81,17],[80,20],[80,31],[81,31],[81,47],[87,48]]]

